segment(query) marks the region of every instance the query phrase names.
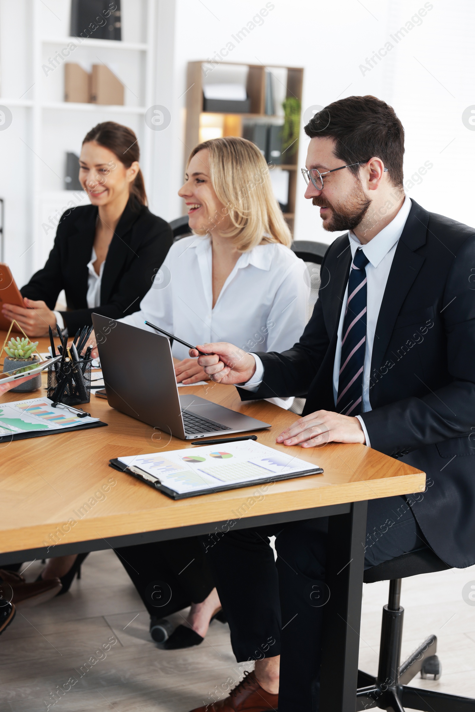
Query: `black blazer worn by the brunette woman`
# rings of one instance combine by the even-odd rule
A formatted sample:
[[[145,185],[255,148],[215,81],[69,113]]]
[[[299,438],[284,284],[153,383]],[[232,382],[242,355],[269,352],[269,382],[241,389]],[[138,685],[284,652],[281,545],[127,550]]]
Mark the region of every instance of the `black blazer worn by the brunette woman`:
[[[88,262],[93,250],[98,208],[78,206],[61,216],[53,249],[43,269],[23,288],[28,299],[43,300],[53,310],[66,293],[68,311],[61,312],[69,335],[92,324],[93,312],[120,319],[138,311],[172,245],[172,229],[162,218],[130,199],[110,242],[100,284],[100,306],[88,308]]]

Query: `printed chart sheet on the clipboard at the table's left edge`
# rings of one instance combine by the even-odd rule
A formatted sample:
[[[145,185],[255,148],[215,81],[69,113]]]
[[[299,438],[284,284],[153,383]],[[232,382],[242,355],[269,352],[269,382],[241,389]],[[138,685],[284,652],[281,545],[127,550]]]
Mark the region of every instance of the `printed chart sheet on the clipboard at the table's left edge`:
[[[0,437],[33,431],[61,430],[98,422],[98,418],[78,418],[64,406],[53,408],[49,398],[0,403]]]

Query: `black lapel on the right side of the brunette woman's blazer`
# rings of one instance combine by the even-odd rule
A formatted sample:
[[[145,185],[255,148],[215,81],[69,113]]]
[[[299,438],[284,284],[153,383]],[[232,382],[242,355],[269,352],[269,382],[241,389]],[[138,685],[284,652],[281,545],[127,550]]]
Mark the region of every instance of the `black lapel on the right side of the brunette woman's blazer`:
[[[127,258],[131,260],[136,256],[136,253],[131,245],[132,226],[142,213],[143,209],[144,208],[142,206],[133,206],[129,201],[120,216],[120,220],[115,228],[114,236],[109,246],[108,256],[104,265],[103,278],[100,283],[101,304],[108,303],[115,281],[118,278],[125,261],[127,261]]]

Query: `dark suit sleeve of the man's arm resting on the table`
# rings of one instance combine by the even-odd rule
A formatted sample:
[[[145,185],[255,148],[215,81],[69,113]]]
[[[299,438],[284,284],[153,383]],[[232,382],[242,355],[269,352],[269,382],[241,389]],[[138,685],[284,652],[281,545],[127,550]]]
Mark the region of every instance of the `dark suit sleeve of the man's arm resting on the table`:
[[[410,452],[471,434],[475,423],[475,236],[456,253],[442,300],[451,382],[423,397],[405,398],[362,413],[372,448]],[[468,267],[467,267],[468,266]]]

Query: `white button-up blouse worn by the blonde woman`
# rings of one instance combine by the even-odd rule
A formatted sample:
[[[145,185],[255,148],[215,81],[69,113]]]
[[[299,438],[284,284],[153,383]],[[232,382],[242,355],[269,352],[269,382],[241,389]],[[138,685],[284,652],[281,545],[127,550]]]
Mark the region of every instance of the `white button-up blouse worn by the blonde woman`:
[[[310,294],[305,263],[287,247],[269,243],[239,256],[214,308],[209,236],[185,237],[169,249],[140,311],[119,321],[152,331],[145,320],[192,344],[227,341],[245,351],[285,351],[306,325]],[[172,354],[189,357],[173,342]],[[289,408],[293,399],[271,399]]]

